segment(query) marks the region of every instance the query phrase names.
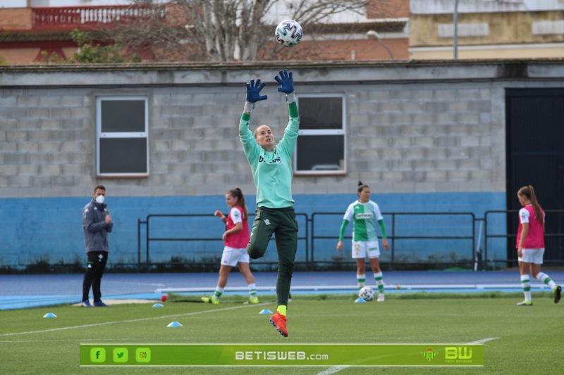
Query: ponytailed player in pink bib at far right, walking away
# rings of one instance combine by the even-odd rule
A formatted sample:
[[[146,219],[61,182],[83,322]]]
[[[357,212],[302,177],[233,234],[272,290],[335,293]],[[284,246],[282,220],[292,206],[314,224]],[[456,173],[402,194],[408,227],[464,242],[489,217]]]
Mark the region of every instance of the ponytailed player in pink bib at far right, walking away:
[[[519,272],[525,300],[517,306],[532,306],[531,280],[532,277],[548,285],[554,291],[554,303],[560,301],[562,288],[547,274],[541,272],[544,255],[544,211],[537,202],[533,186],[523,186],[517,191],[517,199],[523,206],[519,210],[519,228],[517,229],[517,257]]]

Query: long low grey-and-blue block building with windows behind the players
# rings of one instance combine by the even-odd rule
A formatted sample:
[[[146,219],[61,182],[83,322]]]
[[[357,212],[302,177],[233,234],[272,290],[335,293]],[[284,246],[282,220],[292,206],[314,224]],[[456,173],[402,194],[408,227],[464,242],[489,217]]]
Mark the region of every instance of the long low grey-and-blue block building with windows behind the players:
[[[222,227],[212,213],[224,208],[226,191],[240,186],[250,212],[255,209],[238,140],[245,82],[268,82],[269,99],[257,104],[252,127],[271,125],[279,139],[288,122],[273,79],[281,68],[293,71],[302,117],[293,182],[295,210],[307,215],[300,218],[300,236],[311,235],[305,227],[315,212],[335,213],[315,234],[338,236],[358,181],[371,186],[388,235],[444,236],[461,229],[475,236],[474,223],[414,215],[392,222],[391,213],[467,212],[480,219],[511,208],[508,90],[548,92],[564,85],[562,61],[0,68],[0,265],[82,261],[80,211],[97,184],[107,188],[116,224],[111,262],[145,260],[145,241],[141,255],[137,248],[139,220],[155,214],[201,216],[152,218],[151,237],[216,241],[152,243],[152,262],[199,262],[221,253]],[[558,121],[545,122],[560,128]],[[558,174],[558,163],[550,168],[543,173]],[[519,175],[541,184],[530,181],[537,178],[530,172]],[[544,189],[543,202],[561,196],[558,186]],[[505,217],[495,230],[507,233]],[[335,245],[336,237],[315,243],[315,260],[338,258]],[[494,245],[489,259],[508,259],[512,246]],[[312,244],[305,246],[302,241],[298,262],[312,256]],[[393,242],[396,260],[406,262],[468,259],[473,246]],[[275,259],[271,250],[264,260]]]

